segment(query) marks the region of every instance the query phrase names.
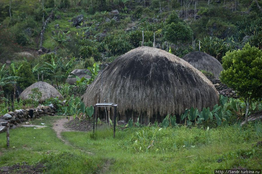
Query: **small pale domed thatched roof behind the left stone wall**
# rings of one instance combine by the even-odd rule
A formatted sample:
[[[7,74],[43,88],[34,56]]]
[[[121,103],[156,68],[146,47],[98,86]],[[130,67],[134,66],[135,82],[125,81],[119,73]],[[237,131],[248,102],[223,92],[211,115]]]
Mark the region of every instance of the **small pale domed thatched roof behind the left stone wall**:
[[[42,93],[42,97],[40,102],[43,102],[49,98],[55,98],[58,97],[60,100],[63,99],[62,95],[56,90],[56,88],[54,88],[53,86],[51,86],[50,84],[43,82],[43,81],[38,81],[34,84],[32,84],[31,86],[27,87],[20,95],[19,98],[26,100],[29,99],[29,94],[32,93],[31,89],[33,88],[38,88],[41,93]]]

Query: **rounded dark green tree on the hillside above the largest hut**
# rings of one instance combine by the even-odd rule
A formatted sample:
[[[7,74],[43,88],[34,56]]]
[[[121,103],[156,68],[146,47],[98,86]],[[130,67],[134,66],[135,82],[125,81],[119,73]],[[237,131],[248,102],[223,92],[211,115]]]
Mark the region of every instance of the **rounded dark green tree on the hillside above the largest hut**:
[[[166,26],[164,26],[162,32],[167,41],[176,44],[191,39],[193,34],[191,28],[179,19],[175,12],[166,19]]]

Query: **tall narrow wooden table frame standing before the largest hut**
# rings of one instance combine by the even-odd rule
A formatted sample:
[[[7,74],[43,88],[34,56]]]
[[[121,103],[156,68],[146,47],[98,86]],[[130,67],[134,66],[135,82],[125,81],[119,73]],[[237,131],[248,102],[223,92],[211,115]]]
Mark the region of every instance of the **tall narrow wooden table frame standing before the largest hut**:
[[[117,104],[114,103],[97,103],[94,105],[94,115],[93,115],[93,133],[95,133],[95,121],[96,121],[96,128],[97,128],[97,113],[98,113],[98,108],[99,107],[114,107],[114,135],[113,137],[115,138],[115,125],[116,125],[116,113],[117,113]],[[110,116],[108,117],[110,118]]]

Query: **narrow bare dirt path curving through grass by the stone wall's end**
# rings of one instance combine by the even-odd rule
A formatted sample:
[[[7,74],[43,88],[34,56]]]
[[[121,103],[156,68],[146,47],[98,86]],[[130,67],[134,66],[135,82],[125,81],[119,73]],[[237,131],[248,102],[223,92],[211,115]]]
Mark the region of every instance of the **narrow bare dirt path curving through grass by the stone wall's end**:
[[[72,120],[73,118],[70,117],[70,120]],[[68,131],[73,131],[72,129],[69,129],[67,127],[64,127],[64,124],[68,122],[68,119],[66,118],[63,118],[63,119],[60,119],[60,120],[57,120],[56,122],[54,122],[53,124],[53,129],[54,131],[56,132],[57,134],[57,137],[59,139],[61,139],[65,144],[69,145],[69,142],[66,141],[65,139],[62,138],[61,136],[61,132],[68,132]]]

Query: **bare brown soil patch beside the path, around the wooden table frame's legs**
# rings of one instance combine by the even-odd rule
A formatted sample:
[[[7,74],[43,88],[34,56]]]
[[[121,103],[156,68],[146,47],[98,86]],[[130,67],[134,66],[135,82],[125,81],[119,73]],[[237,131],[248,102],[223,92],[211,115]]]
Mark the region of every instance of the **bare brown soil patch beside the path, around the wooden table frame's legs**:
[[[76,130],[76,131],[93,131],[93,121],[81,120],[78,119],[70,120],[65,124],[67,128]],[[97,122],[97,128],[105,127],[105,122]]]

